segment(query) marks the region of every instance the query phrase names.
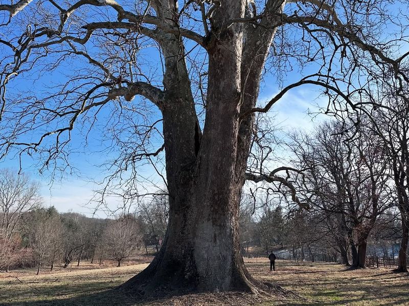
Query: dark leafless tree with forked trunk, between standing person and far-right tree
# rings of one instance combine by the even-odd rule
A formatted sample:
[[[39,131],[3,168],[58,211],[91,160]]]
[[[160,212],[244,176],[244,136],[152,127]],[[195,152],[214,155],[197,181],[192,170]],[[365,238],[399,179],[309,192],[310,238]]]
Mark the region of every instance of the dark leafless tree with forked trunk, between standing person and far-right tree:
[[[382,142],[362,125],[327,122],[315,135],[297,141],[314,209],[325,216],[337,251],[348,264],[365,267],[367,240],[377,219],[392,205]],[[308,173],[308,175],[307,175]]]

